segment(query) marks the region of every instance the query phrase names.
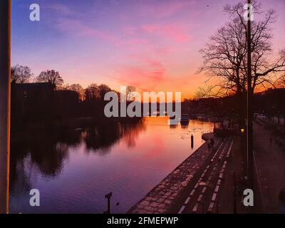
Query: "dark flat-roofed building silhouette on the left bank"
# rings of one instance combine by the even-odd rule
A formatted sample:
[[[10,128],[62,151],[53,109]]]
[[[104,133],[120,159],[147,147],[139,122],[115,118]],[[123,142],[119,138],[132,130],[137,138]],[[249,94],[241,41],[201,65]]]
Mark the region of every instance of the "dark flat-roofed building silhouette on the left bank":
[[[11,114],[15,120],[53,120],[72,116],[78,93],[55,90],[52,83],[12,83]]]

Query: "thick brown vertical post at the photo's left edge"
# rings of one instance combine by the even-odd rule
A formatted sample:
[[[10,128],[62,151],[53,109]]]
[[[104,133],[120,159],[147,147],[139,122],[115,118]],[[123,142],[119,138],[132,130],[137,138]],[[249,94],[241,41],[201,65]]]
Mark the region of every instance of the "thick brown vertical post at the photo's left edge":
[[[0,1],[0,214],[9,212],[11,0]]]

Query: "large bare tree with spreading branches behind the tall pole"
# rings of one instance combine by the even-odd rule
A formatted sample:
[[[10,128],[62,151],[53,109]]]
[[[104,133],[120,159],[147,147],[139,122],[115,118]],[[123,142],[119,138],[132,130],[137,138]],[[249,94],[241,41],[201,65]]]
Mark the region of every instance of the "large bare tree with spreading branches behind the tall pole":
[[[252,91],[249,92],[252,94],[257,86],[272,84],[271,77],[285,71],[285,51],[279,51],[274,58],[271,47],[274,11],[262,13],[257,1],[253,5],[255,14],[263,19],[252,22],[252,76],[249,78],[252,83]],[[229,22],[219,28],[200,51],[204,63],[198,73],[206,72],[209,80],[216,80],[212,88],[204,90],[208,93],[211,91],[211,95],[247,92],[247,21],[244,21],[243,7],[242,2],[224,7],[224,11],[229,14]]]

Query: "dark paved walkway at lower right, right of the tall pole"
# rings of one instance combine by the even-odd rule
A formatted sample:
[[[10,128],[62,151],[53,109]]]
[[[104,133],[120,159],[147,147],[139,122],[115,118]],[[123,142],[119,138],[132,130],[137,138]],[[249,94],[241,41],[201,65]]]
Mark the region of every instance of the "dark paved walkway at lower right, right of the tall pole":
[[[285,151],[273,139],[271,131],[264,125],[254,123],[254,154],[261,182],[261,196],[264,212],[284,212],[284,205],[279,202],[279,192],[285,187]]]

